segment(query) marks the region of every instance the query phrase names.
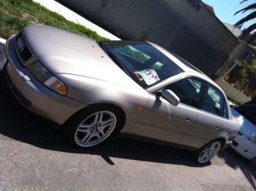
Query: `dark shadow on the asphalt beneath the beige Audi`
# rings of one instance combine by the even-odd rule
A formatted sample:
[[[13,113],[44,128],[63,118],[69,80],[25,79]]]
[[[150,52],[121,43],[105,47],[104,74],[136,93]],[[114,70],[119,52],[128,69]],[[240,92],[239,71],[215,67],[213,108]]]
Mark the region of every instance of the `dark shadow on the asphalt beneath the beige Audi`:
[[[110,157],[193,167],[204,166],[193,162],[191,152],[130,139],[114,138],[87,149],[70,147],[60,132],[53,131],[47,122],[38,119],[16,101],[2,74],[0,74],[0,116],[0,134],[6,136],[5,138],[0,135],[0,139],[9,137],[47,150],[99,155],[111,165],[114,163]]]

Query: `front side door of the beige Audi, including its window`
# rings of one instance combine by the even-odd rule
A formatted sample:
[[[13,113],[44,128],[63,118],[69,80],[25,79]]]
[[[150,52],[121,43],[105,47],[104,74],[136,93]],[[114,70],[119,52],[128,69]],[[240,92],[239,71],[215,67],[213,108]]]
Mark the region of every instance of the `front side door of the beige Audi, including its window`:
[[[179,98],[175,107],[161,96],[150,95],[148,105],[137,119],[130,134],[167,142],[178,142],[198,116],[199,101],[206,82],[195,77],[175,81],[161,91],[169,89]]]

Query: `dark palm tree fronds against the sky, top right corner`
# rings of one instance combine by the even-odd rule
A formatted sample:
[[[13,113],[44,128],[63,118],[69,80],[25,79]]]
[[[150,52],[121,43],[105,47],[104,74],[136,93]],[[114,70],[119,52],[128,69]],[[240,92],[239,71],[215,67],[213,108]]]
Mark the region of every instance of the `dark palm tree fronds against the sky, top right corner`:
[[[248,0],[243,0],[241,3],[244,3],[246,1],[248,1]],[[234,13],[234,15],[236,15],[236,14],[238,14],[240,12],[245,13],[248,10],[254,10],[254,9],[256,9],[256,3],[253,3],[253,4],[249,5],[249,6],[241,9],[240,11],[237,11],[236,13]],[[248,14],[247,16],[245,16],[244,18],[240,19],[237,23],[234,24],[234,26],[241,29],[241,27],[243,26],[243,24],[245,22],[247,22],[248,20],[254,19],[254,18],[256,18],[256,11],[254,11],[254,12]],[[252,32],[255,29],[256,29],[256,23],[254,23],[251,26],[249,26],[248,28],[244,29],[243,32],[242,32],[241,37],[249,34],[250,32]],[[256,37],[256,32],[254,32],[252,34],[252,39],[254,39],[255,37]]]

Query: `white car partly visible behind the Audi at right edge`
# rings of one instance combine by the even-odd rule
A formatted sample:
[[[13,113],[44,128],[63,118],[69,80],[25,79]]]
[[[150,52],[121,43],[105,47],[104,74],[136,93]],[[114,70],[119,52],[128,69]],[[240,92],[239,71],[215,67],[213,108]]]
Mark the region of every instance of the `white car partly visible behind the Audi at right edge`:
[[[256,104],[235,106],[231,112],[240,123],[240,131],[231,147],[250,164],[256,164]]]

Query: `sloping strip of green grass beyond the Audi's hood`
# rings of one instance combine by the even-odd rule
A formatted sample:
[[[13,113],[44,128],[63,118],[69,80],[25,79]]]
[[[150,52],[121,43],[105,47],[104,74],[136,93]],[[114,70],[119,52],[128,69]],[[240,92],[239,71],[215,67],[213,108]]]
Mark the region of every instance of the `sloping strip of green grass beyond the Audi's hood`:
[[[0,37],[8,38],[29,24],[47,25],[76,33],[94,40],[108,38],[75,24],[32,0],[0,0]]]

